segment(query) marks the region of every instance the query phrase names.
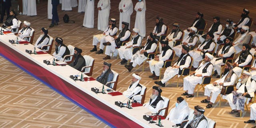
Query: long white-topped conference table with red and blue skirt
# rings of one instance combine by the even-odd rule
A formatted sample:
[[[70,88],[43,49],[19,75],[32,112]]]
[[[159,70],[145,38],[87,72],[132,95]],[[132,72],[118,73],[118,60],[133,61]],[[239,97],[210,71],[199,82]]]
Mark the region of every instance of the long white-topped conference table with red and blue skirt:
[[[158,128],[155,123],[143,119],[143,115],[150,110],[143,106],[132,109],[120,108],[116,101],[126,100],[123,95],[110,96],[108,94],[94,93],[91,88],[102,87],[96,80],[89,82],[74,81],[70,75],[81,74],[71,66],[53,66],[44,64],[43,60],[52,59],[50,54],[28,54],[26,50],[34,51],[32,44],[11,44],[9,40],[16,40],[15,35],[0,35],[0,55],[40,80],[74,104],[80,106],[102,122],[113,128]],[[19,39],[22,40],[22,39]],[[40,49],[36,48],[37,51]],[[50,60],[51,61],[51,60]],[[88,77],[83,74],[84,77]],[[105,88],[107,88],[105,86]],[[126,102],[126,101],[124,101]],[[172,128],[169,120],[162,120],[164,127]]]

